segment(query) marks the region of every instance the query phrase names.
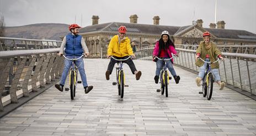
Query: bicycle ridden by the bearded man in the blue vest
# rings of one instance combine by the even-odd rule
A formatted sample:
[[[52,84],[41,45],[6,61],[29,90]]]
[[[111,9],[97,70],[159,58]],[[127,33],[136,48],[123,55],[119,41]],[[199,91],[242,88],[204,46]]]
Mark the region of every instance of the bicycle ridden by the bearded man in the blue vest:
[[[79,57],[79,58],[67,58],[65,55],[62,55],[64,58],[72,61],[72,65],[71,65],[71,68],[70,68],[70,97],[71,97],[71,100],[74,100],[74,97],[76,96],[76,88],[77,88],[77,84],[78,83],[82,83],[82,81],[78,81],[77,80],[77,70],[78,70],[78,67],[81,66],[81,64],[77,67],[76,66],[76,61],[80,58],[82,58],[84,56],[84,54]],[[68,88],[65,88],[65,91],[68,91],[69,89]]]

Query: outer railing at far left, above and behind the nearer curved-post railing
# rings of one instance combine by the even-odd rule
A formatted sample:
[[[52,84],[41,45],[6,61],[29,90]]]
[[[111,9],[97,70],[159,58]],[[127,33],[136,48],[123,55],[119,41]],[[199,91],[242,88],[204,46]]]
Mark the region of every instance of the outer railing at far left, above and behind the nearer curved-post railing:
[[[62,41],[0,37],[0,51],[60,48]]]

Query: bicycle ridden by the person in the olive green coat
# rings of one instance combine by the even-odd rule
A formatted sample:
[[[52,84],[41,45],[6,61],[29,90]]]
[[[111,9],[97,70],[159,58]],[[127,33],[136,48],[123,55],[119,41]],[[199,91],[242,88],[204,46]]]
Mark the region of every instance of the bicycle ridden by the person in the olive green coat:
[[[220,59],[218,58],[217,61],[215,62],[211,62],[210,58],[209,58],[209,61],[205,61],[200,57],[198,59],[201,59],[203,62],[207,63],[205,74],[204,74],[204,77],[202,78],[202,91],[200,91],[199,94],[202,94],[202,96],[204,97],[206,96],[207,100],[211,100],[212,89],[214,86],[214,77],[211,72],[211,64],[220,61]]]

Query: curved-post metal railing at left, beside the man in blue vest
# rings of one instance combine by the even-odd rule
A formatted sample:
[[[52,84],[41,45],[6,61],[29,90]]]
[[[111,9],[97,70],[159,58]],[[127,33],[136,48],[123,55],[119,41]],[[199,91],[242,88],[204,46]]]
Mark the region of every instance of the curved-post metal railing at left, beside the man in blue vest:
[[[57,56],[59,50],[0,51],[0,111],[61,76],[63,57]]]

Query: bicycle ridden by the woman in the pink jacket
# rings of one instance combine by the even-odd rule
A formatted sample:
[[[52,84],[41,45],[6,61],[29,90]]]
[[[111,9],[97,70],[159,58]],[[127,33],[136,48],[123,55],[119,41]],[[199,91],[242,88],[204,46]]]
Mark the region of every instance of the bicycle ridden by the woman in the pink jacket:
[[[174,57],[175,55],[172,56],[172,58]],[[158,58],[156,56],[157,59],[160,59],[163,61],[163,67],[161,69],[161,72],[160,72],[160,89],[157,89],[157,92],[160,92],[161,91],[161,94],[163,95],[164,94],[164,89],[166,89],[166,97],[168,97],[168,84],[169,84],[169,80],[172,79],[172,77],[169,77],[169,72],[167,70],[167,67],[166,67],[166,61],[172,59],[172,58],[168,58],[168,59],[162,59],[162,58]]]

